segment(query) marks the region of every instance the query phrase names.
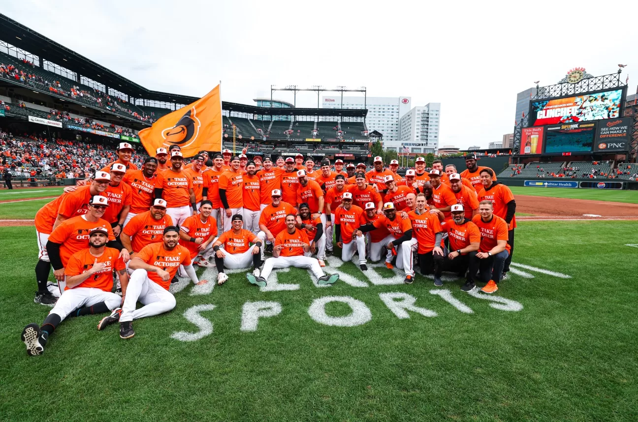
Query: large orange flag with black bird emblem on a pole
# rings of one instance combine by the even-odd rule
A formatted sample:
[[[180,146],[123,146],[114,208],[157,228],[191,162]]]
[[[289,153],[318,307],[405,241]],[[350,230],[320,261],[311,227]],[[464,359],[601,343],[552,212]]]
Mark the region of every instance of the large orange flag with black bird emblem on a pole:
[[[138,134],[149,156],[160,147],[179,145],[184,157],[200,151],[221,151],[221,94],[219,85],[184,108],[160,117]]]

